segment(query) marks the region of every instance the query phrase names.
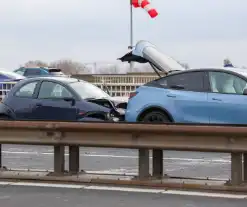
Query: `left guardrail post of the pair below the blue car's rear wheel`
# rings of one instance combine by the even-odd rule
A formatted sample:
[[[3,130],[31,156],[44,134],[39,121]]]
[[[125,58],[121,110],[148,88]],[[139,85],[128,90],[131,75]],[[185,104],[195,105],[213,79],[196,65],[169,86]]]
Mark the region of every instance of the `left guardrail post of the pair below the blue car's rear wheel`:
[[[149,177],[149,150],[139,149],[139,179]]]

